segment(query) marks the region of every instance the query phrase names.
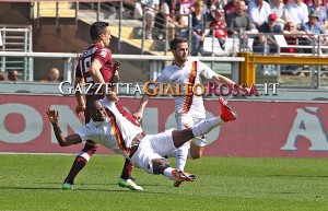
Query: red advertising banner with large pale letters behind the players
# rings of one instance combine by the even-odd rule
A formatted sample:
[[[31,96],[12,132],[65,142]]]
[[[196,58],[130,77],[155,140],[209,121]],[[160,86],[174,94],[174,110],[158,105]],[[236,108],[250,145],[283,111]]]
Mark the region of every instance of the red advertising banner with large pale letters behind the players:
[[[130,112],[138,98],[120,98]],[[218,101],[206,101],[207,116],[220,115]],[[214,129],[204,151],[210,156],[327,157],[328,103],[231,101],[238,118]],[[61,148],[52,134],[46,110],[60,112],[63,133],[83,126],[74,114],[74,97],[1,95],[0,152],[77,153],[83,146]],[[174,101],[151,99],[143,119],[147,133],[175,127]],[[98,153],[112,153],[101,148]]]

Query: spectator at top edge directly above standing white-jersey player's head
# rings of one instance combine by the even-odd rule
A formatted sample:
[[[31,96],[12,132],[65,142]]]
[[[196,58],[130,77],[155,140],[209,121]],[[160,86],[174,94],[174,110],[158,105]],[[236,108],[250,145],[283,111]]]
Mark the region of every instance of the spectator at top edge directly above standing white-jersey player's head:
[[[161,5],[161,12],[163,15],[163,25],[160,28],[159,39],[163,39],[165,34],[165,21],[167,17],[168,26],[168,39],[173,39],[176,34],[176,27],[183,27],[181,13],[183,8],[178,0],[166,0]],[[159,13],[157,15],[160,15]]]

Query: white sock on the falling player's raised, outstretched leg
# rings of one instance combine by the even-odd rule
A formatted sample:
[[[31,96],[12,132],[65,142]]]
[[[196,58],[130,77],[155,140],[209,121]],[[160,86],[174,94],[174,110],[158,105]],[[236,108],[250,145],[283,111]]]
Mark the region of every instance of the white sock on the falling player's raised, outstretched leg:
[[[222,122],[224,121],[221,119],[221,117],[206,119],[192,127],[192,133],[195,137],[201,137],[209,133],[213,128],[220,126]]]

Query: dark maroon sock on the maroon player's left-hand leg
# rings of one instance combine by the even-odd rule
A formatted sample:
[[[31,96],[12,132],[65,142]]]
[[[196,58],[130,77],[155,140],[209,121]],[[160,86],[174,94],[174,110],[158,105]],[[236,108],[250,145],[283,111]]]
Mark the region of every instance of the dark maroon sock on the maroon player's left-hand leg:
[[[90,144],[85,143],[82,151],[86,152],[90,156],[92,156],[96,152],[97,148],[98,148],[98,144],[90,145]],[[69,184],[74,184],[74,178],[77,177],[79,172],[86,165],[86,163],[87,163],[87,161],[84,157],[77,156],[65,181],[69,183]]]

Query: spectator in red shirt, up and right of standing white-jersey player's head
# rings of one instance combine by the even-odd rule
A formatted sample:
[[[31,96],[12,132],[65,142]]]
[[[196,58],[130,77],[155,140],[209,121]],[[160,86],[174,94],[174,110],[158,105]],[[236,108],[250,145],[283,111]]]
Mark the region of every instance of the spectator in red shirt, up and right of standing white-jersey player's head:
[[[215,11],[215,21],[212,21],[210,24],[212,32],[214,33],[214,36],[219,39],[219,43],[221,47],[224,49],[224,43],[227,37],[227,32],[225,30],[226,23],[224,20],[224,11],[223,10],[216,10]]]

